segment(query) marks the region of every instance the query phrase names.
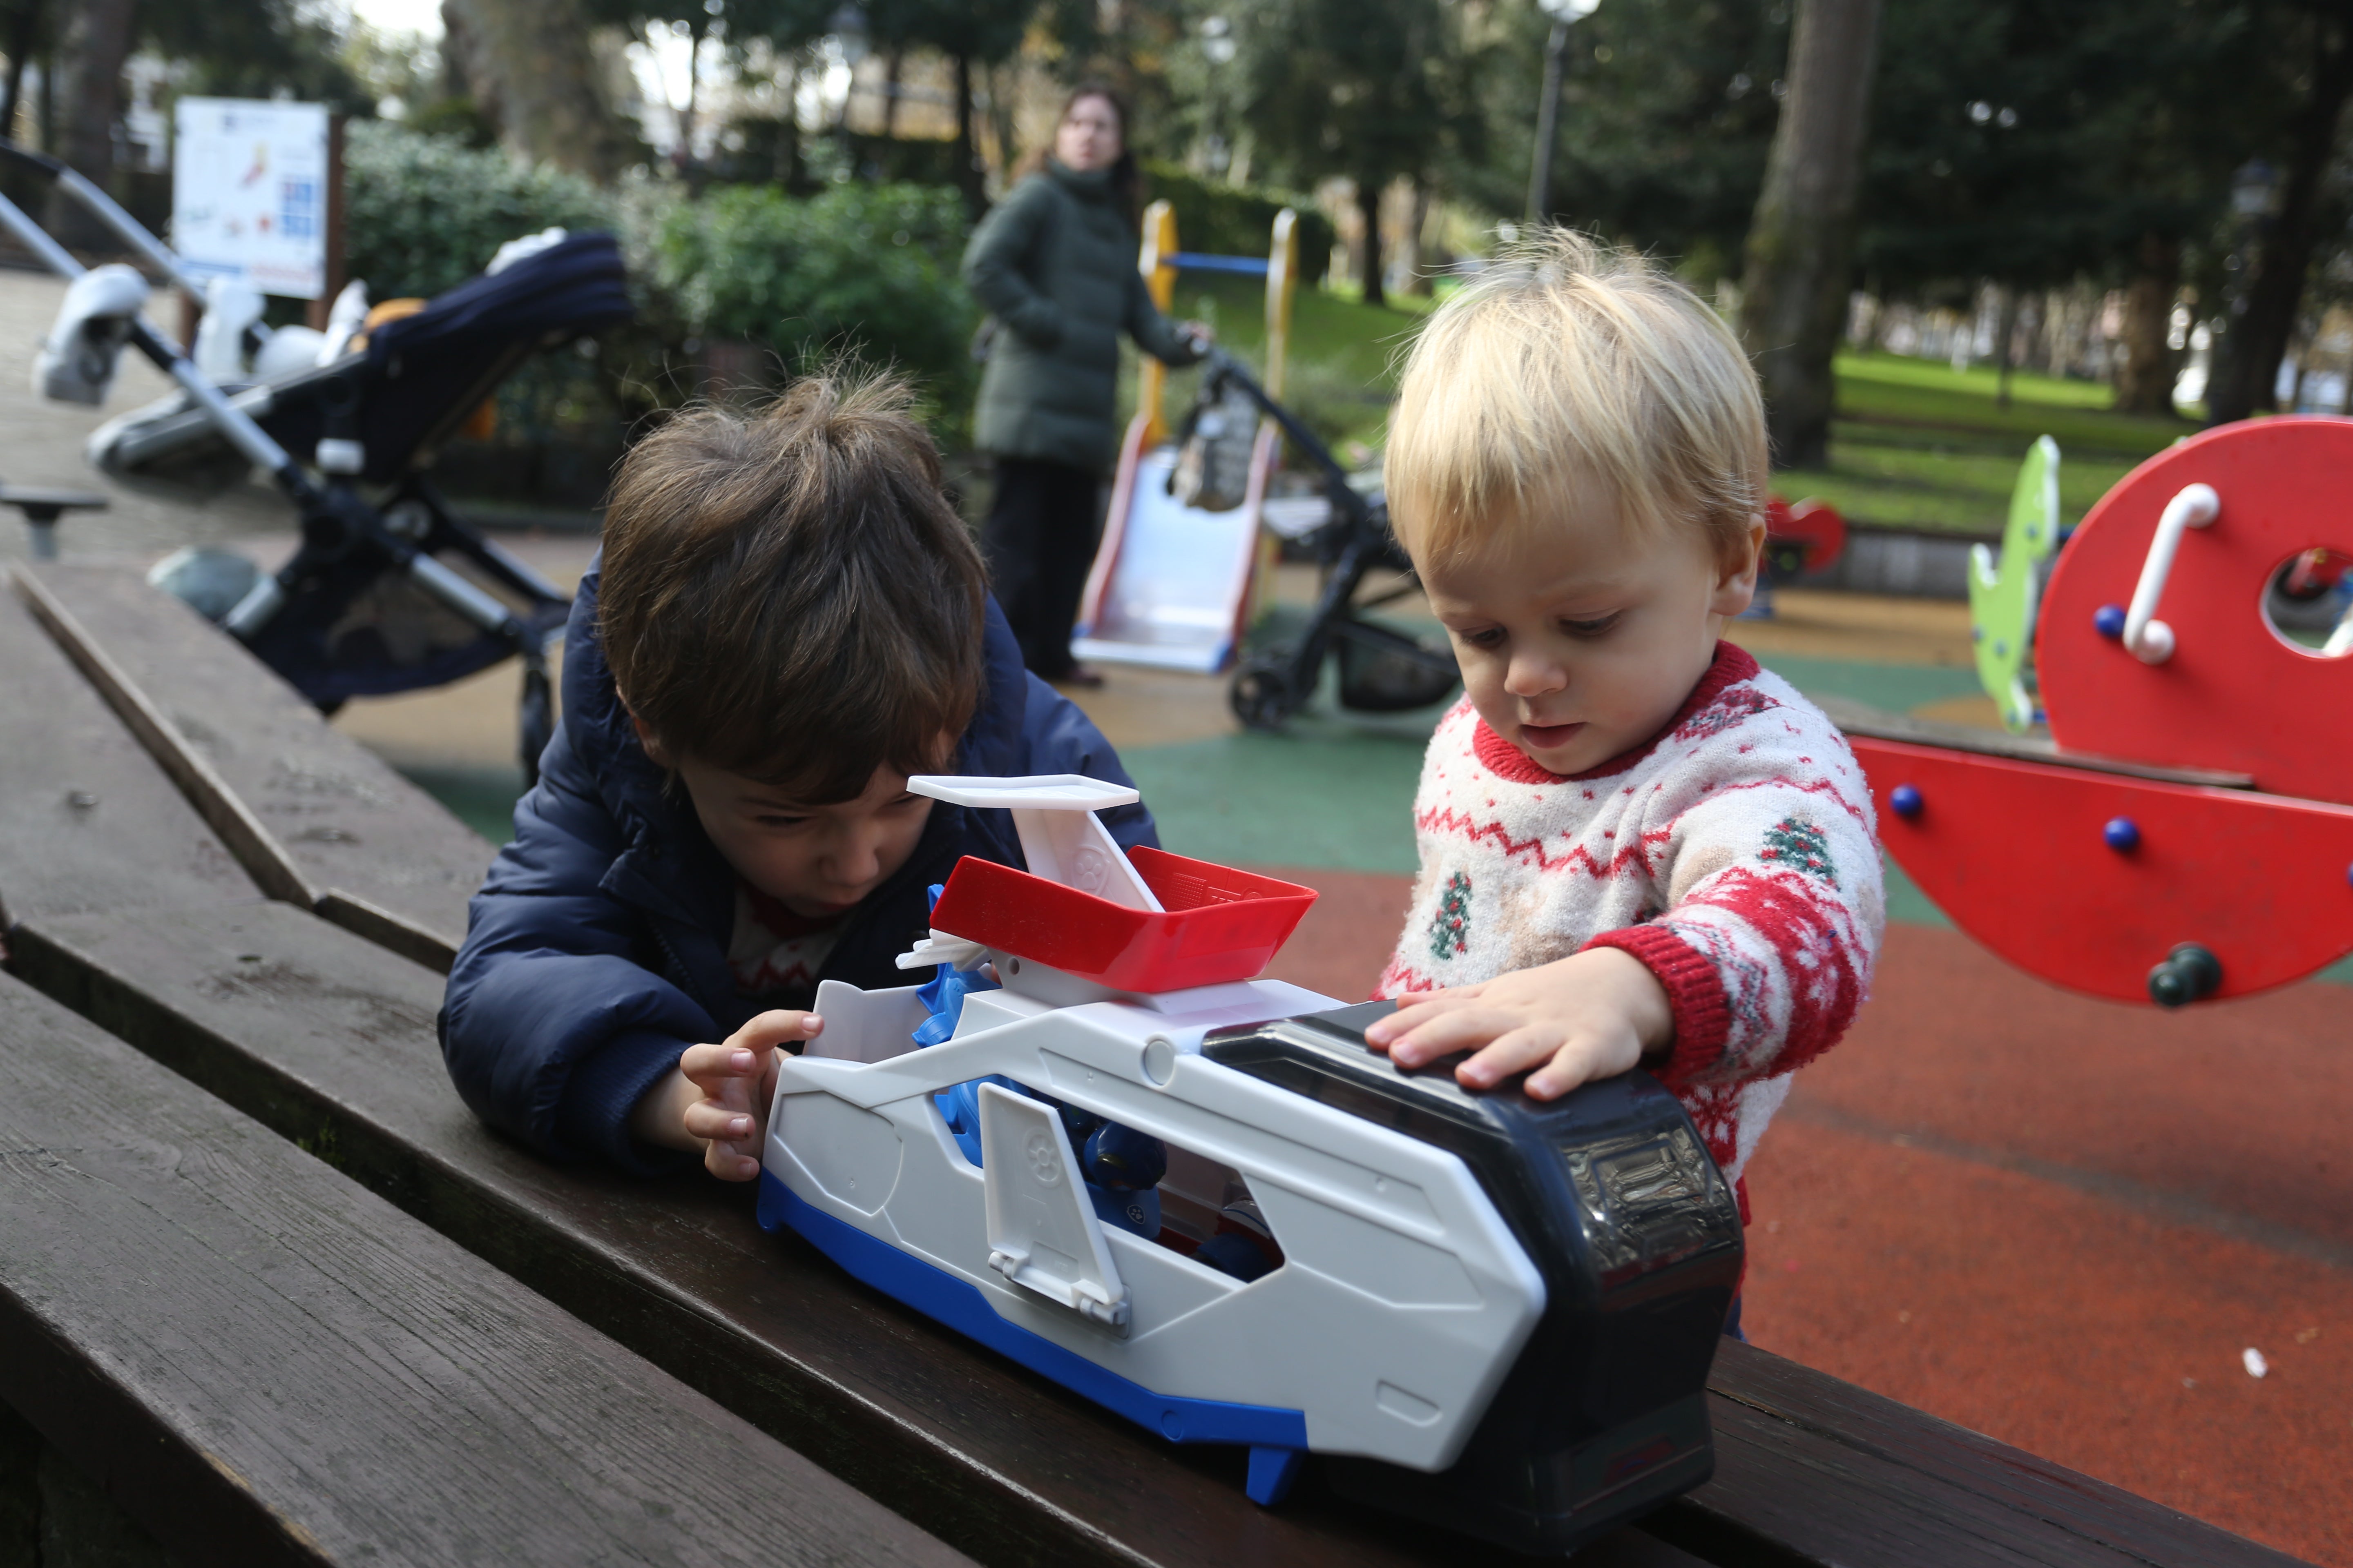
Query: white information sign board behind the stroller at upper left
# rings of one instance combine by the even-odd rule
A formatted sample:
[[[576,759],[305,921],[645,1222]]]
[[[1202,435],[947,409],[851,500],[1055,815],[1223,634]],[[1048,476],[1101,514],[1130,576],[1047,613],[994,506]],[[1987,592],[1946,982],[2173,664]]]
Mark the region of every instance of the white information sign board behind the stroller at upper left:
[[[261,294],[327,292],[327,106],[181,99],[172,136],[172,249]]]

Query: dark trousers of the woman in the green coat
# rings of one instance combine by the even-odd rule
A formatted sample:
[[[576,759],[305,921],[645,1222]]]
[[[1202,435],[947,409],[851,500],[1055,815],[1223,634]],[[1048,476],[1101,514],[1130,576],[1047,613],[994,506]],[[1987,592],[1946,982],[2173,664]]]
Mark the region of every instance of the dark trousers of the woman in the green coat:
[[[1085,468],[998,458],[998,496],[981,552],[998,604],[1021,639],[1021,663],[1042,679],[1071,672],[1071,623],[1104,536],[1101,480]]]

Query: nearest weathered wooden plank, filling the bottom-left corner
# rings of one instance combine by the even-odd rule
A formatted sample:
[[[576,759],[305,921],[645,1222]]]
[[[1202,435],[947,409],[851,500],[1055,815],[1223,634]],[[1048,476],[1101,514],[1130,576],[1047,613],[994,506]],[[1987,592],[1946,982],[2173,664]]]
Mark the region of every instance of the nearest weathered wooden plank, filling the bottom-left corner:
[[[965,1561],[9,978],[0,1396],[191,1561]]]

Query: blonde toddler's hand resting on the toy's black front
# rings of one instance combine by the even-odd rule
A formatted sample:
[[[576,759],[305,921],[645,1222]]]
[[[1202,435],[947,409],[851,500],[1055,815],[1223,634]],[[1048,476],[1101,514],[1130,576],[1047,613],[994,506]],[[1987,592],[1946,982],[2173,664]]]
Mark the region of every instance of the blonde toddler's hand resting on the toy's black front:
[[[1400,1067],[1475,1051],[1454,1070],[1464,1088],[1494,1088],[1541,1063],[1527,1093],[1558,1100],[1640,1065],[1673,1034],[1666,987],[1649,966],[1619,947],[1591,947],[1480,985],[1398,997],[1398,1011],[1365,1030],[1365,1044]]]

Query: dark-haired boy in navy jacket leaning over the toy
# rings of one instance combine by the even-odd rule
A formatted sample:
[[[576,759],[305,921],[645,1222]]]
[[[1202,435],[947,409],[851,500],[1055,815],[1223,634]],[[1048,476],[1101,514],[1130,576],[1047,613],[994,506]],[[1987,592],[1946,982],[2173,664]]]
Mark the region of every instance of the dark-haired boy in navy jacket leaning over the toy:
[[[562,726],[473,898],[442,1056],[558,1159],[758,1173],[774,1051],[819,980],[906,985],[927,886],[1021,865],[1002,811],[911,773],[1089,773],[1111,743],[988,597],[906,388],[812,376],[682,414],[614,482],[565,642]],[[1141,804],[1104,813],[1158,844]]]

